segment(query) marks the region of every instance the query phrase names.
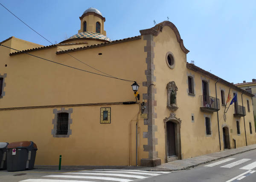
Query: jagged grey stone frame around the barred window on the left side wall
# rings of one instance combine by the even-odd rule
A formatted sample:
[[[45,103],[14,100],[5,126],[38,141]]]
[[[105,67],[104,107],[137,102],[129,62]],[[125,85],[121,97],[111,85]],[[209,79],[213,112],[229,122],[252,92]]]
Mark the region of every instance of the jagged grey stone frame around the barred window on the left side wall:
[[[59,113],[68,113],[68,131],[67,135],[57,135],[57,129],[58,129],[58,114]],[[68,110],[65,110],[65,108],[61,108],[61,110],[53,109],[54,119],[52,119],[53,129],[52,129],[52,137],[56,138],[68,138],[72,134],[72,130],[70,129],[70,124],[72,124],[71,114],[73,113],[73,108],[68,108]]]

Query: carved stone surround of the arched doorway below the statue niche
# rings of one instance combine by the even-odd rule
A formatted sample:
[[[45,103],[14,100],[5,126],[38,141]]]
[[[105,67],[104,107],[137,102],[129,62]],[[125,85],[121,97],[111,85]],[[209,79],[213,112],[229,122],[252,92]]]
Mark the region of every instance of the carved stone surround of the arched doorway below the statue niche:
[[[167,155],[167,122],[173,122],[175,124],[175,153],[177,156],[177,159],[182,159],[181,156],[181,142],[180,142],[180,128],[181,128],[181,120],[180,118],[177,118],[175,113],[171,113],[169,117],[166,117],[163,119],[164,122],[164,131],[165,131],[165,144],[166,144],[166,157],[165,161],[168,162],[168,155]]]

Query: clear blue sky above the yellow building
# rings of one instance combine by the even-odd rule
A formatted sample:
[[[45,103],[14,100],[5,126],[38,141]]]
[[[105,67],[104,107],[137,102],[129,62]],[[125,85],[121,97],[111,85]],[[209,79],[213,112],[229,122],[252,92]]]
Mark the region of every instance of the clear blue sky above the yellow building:
[[[140,35],[167,20],[175,24],[189,53],[187,61],[229,82],[256,78],[255,0],[0,0],[10,11],[51,42],[80,29],[79,17],[94,7],[102,12],[111,40]],[[157,2],[157,3],[156,3]],[[49,43],[0,6],[0,41],[11,36]]]

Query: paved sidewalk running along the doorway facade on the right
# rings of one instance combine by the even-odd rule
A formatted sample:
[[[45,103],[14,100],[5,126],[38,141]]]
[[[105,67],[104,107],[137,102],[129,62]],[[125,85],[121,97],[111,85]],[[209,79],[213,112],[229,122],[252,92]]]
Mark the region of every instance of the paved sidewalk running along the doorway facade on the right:
[[[185,170],[188,168],[193,168],[195,166],[205,164],[208,162],[212,162],[218,159],[223,159],[229,156],[233,156],[236,154],[240,154],[246,151],[255,150],[256,144],[248,145],[240,148],[234,148],[234,149],[227,149],[224,151],[207,154],[204,156],[197,156],[192,157],[189,159],[183,159],[183,160],[175,160],[168,163],[163,163],[162,165],[150,168],[150,169],[144,169],[149,171],[180,171]]]

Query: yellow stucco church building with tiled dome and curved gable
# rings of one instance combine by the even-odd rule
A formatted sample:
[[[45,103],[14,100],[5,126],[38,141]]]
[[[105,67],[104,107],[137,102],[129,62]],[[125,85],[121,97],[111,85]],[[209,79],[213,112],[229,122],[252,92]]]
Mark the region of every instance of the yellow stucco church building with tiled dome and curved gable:
[[[256,143],[253,94],[187,63],[173,23],[112,41],[99,10],[80,20],[55,45],[0,43],[1,142],[35,142],[35,165],[141,166]]]

